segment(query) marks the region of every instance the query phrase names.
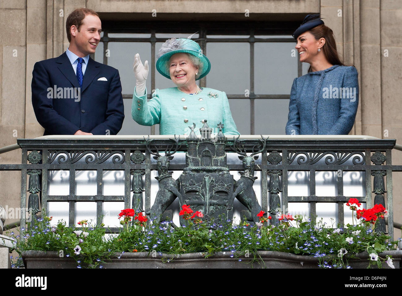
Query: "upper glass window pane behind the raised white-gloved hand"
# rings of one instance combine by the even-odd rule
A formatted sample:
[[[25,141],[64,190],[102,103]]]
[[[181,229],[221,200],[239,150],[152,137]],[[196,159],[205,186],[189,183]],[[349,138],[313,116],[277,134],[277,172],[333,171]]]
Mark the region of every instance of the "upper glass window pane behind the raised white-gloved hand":
[[[134,55],[139,53],[142,63],[148,60],[150,73],[146,87],[151,89],[151,43],[148,42],[109,42],[108,49],[110,57],[107,64],[119,70],[122,93],[132,95],[135,87],[135,76],[133,72]]]

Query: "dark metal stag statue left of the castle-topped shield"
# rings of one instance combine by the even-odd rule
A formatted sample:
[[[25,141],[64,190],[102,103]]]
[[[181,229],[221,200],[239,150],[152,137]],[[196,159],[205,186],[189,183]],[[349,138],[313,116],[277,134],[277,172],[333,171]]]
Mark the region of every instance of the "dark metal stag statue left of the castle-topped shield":
[[[146,149],[150,154],[154,155],[154,159],[157,160],[159,174],[158,177],[155,177],[156,180],[158,180],[159,182],[159,190],[158,193],[156,193],[154,205],[152,205],[150,211],[146,214],[150,215],[151,219],[154,219],[154,223],[159,223],[160,217],[162,216],[166,208],[174,201],[174,199],[176,199],[176,197],[181,196],[178,191],[180,186],[179,181],[174,180],[174,178],[172,178],[173,172],[168,171],[170,160],[173,159],[172,155],[176,153],[179,147],[178,142],[180,140],[180,136],[176,138],[176,135],[174,135],[174,140],[170,139],[174,141],[174,144],[172,144],[172,146],[170,147],[166,147],[164,156],[161,156],[159,154],[159,150],[156,146],[156,152],[153,152],[151,150],[150,142],[152,140],[149,139],[149,136],[148,139],[145,139],[144,137],[144,140],[146,140]],[[173,147],[174,150],[172,152]]]

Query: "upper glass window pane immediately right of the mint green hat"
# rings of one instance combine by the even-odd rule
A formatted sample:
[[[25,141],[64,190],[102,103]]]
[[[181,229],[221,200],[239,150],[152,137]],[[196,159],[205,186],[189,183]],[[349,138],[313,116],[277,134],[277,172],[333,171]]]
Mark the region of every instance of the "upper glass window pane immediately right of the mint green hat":
[[[207,57],[211,62],[207,87],[229,94],[244,94],[250,89],[249,43],[208,42]]]

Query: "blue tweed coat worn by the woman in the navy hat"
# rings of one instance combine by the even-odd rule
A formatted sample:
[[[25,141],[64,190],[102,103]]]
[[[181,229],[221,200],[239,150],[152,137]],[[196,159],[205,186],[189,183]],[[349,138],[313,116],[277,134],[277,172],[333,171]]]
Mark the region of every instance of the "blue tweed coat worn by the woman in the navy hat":
[[[293,80],[287,135],[347,135],[355,122],[359,83],[355,67],[334,65]]]

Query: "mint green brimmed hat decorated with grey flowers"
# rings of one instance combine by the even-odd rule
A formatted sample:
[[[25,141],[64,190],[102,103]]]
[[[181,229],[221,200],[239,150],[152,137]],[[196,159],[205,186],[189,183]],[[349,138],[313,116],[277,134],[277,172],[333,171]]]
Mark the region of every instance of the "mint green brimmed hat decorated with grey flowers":
[[[203,64],[202,73],[199,73],[198,78],[195,80],[201,79],[211,70],[211,63],[209,59],[201,53],[201,47],[197,42],[187,38],[172,38],[165,41],[159,49],[158,55],[156,55],[158,59],[158,61],[156,61],[156,70],[168,79],[170,79],[170,73],[168,67],[166,67],[166,62],[176,53],[189,53],[200,59]]]

